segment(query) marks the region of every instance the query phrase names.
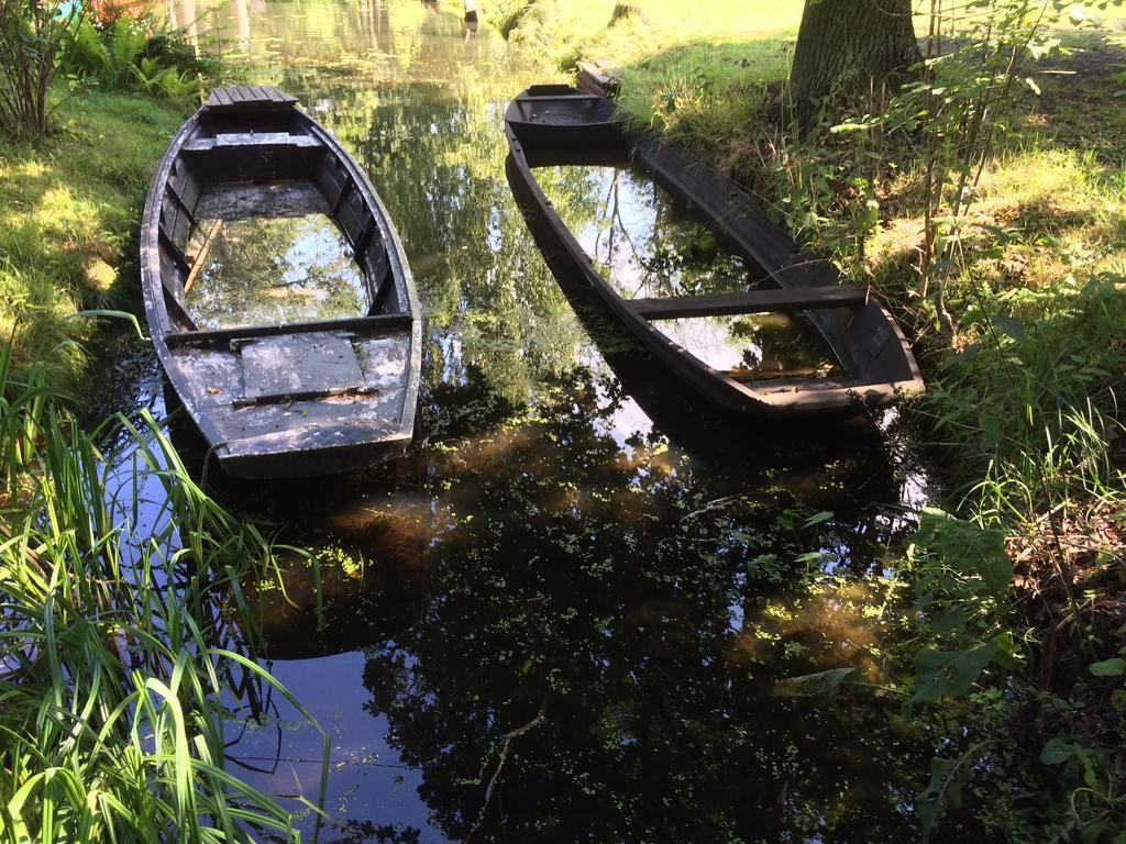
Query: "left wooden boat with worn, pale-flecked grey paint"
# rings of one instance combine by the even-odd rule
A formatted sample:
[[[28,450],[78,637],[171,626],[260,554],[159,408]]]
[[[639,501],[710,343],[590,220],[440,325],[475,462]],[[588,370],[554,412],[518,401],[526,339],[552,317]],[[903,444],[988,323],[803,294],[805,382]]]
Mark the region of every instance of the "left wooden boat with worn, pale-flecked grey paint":
[[[359,269],[358,312],[197,325],[193,282],[207,226],[302,214],[331,219],[328,230],[347,244],[343,262]],[[145,203],[141,282],[168,378],[230,474],[328,474],[405,451],[421,359],[414,282],[367,178],[293,97],[217,88],[184,124]]]

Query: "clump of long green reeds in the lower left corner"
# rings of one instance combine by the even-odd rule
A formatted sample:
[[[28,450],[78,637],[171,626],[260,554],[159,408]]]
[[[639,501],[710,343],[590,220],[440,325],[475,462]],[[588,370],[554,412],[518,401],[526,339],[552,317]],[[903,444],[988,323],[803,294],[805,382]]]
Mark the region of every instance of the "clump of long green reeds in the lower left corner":
[[[120,420],[106,459],[8,360],[0,347],[0,842],[300,841],[283,796],[225,767],[271,691],[315,725],[252,657],[240,583],[269,574],[269,542],[152,416]]]

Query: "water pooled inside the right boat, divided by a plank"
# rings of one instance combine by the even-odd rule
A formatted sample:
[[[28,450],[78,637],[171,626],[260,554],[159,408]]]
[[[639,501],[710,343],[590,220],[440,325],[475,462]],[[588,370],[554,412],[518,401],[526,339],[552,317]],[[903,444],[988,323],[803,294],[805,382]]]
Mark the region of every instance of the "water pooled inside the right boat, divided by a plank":
[[[536,169],[553,195],[578,200],[564,218],[614,289],[626,299],[736,293],[762,287],[745,260],[679,207],[644,171],[564,165]],[[591,199],[593,197],[593,199]],[[573,207],[572,203],[560,207]],[[739,379],[828,376],[840,361],[798,315],[781,313],[662,320],[655,325],[701,361]]]

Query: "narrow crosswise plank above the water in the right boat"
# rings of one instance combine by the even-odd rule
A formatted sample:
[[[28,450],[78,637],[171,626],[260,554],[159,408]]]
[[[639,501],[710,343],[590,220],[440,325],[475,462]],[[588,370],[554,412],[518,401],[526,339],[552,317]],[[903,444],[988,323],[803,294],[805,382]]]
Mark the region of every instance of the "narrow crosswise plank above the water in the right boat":
[[[689,316],[784,313],[822,307],[859,307],[867,300],[868,291],[863,287],[833,285],[784,290],[717,293],[706,296],[627,299],[627,303],[638,316],[646,320],[679,320]]]

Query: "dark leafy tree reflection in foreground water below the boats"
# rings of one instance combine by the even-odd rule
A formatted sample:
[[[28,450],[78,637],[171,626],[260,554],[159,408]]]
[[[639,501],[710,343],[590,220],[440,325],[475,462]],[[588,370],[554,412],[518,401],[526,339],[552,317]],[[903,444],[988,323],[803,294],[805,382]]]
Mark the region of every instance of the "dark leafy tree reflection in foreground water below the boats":
[[[569,386],[481,459],[450,457],[465,518],[431,548],[421,618],[368,652],[370,709],[422,770],[434,823],[464,839],[480,818],[474,841],[908,836],[903,772],[924,748],[867,695],[776,693],[842,663],[878,679],[864,646],[887,634],[847,592],[780,589],[817,544],[808,511],[725,494],[660,450],[626,457],[595,424],[599,392]],[[865,557],[873,530],[833,542]]]

